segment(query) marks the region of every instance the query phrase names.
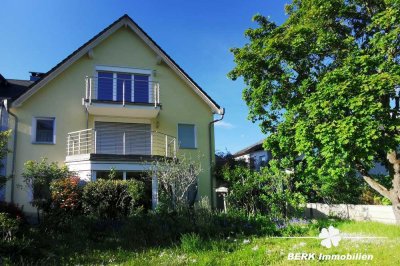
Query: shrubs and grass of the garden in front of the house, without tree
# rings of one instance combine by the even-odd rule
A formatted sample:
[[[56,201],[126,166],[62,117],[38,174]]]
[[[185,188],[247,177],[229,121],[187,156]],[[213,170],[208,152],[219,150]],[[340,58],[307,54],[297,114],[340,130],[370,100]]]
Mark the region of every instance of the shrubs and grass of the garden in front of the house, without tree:
[[[396,225],[302,218],[305,197],[291,189],[293,177],[273,167],[261,172],[238,163],[216,169],[233,191],[228,211],[188,195],[201,167],[190,160],[158,163],[160,202],[146,207],[146,179],[108,178],[84,183],[47,160],[29,161],[25,181],[33,188],[37,223],[28,223],[12,204],[0,207],[0,254],[5,265],[259,265],[296,264],[289,253],[374,256],[372,263],[399,263]],[[189,169],[189,170],[188,170]],[[148,173],[152,174],[152,173]],[[172,186],[181,180],[180,186]],[[185,196],[186,195],[186,196]],[[150,205],[151,206],[151,205]],[[334,226],[338,247],[321,246],[318,235]],[[303,237],[303,238],[293,238]],[[305,238],[304,238],[305,237]],[[355,237],[355,239],[354,239]],[[357,239],[357,237],[387,237]],[[312,260],[301,263],[316,263]],[[340,261],[326,261],[337,265]],[[342,262],[343,263],[343,262]],[[365,261],[350,261],[358,265]],[[371,262],[369,262],[371,263]]]

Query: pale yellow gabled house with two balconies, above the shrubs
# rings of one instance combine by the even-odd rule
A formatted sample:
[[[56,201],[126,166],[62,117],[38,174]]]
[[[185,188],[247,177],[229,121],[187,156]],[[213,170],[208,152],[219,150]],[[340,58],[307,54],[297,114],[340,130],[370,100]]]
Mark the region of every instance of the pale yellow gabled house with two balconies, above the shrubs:
[[[224,109],[128,15],[47,73],[2,82],[2,118],[14,130],[7,201],[34,211],[30,192],[19,188],[28,160],[46,157],[90,181],[111,168],[129,179],[153,160],[199,155],[198,196],[213,200],[213,123]]]

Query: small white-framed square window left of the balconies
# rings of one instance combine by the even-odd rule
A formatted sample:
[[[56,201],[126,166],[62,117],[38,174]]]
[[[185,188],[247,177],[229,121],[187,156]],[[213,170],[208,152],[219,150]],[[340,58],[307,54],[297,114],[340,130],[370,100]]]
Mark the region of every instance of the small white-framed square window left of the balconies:
[[[35,117],[32,125],[32,143],[55,144],[55,118]]]

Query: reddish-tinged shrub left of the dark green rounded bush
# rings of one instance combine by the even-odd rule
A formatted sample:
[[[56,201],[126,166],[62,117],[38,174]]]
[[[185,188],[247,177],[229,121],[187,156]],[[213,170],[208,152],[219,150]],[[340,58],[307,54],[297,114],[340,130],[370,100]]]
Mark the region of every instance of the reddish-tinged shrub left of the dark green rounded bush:
[[[82,211],[82,191],[79,177],[57,179],[50,184],[52,210],[67,214]]]

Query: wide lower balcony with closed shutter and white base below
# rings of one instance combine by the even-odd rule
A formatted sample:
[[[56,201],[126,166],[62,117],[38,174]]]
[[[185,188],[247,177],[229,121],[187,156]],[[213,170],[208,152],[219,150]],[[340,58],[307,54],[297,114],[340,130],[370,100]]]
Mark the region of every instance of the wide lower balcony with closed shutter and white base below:
[[[122,179],[142,176],[155,160],[175,158],[176,138],[144,124],[96,123],[96,129],[70,132],[67,136],[66,165],[84,181],[107,176],[111,169]],[[105,175],[104,175],[105,174]],[[158,179],[151,176],[152,208],[158,202]]]

